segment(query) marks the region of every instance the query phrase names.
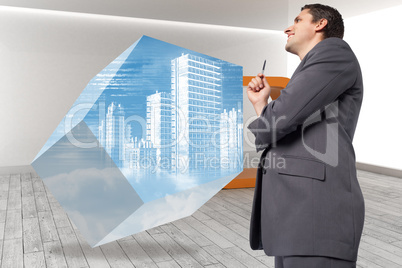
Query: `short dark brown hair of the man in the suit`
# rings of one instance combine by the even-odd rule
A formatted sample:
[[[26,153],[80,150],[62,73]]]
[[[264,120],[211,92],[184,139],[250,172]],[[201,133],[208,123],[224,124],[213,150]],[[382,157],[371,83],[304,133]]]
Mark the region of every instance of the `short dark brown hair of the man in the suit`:
[[[343,39],[345,27],[343,26],[342,15],[333,7],[321,4],[305,5],[301,8],[308,9],[308,12],[313,16],[313,22],[318,22],[321,19],[328,21],[323,29],[324,39],[329,37],[338,37]]]

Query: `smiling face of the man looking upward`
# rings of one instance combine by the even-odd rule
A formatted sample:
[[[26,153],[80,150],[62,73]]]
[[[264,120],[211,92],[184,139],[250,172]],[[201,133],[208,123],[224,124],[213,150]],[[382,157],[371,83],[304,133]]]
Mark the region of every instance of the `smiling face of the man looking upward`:
[[[286,51],[299,55],[309,47],[315,36],[316,23],[313,23],[313,16],[304,9],[295,18],[294,24],[285,30],[288,35]]]

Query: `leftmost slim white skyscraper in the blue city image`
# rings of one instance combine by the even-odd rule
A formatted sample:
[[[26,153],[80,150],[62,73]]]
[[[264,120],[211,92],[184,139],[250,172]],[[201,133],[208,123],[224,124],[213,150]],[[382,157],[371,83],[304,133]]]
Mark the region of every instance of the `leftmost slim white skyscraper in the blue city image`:
[[[106,114],[106,152],[119,167],[124,161],[124,110],[111,103]]]

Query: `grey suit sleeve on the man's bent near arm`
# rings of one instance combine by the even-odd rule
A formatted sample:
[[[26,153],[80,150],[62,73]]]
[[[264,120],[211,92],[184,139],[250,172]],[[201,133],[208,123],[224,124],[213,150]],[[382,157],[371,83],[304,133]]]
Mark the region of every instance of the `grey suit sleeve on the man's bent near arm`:
[[[248,126],[256,138],[257,151],[295,131],[311,114],[334,102],[355,83],[358,63],[346,43],[317,46],[306,55],[304,65],[281,95]]]

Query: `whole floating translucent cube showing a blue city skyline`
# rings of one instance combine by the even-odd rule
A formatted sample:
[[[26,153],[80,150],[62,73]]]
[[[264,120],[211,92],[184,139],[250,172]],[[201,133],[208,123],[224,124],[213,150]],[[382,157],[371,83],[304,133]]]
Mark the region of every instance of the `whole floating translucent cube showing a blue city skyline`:
[[[32,166],[92,247],[189,216],[243,170],[242,78],[143,36],[88,83]]]

